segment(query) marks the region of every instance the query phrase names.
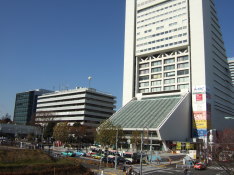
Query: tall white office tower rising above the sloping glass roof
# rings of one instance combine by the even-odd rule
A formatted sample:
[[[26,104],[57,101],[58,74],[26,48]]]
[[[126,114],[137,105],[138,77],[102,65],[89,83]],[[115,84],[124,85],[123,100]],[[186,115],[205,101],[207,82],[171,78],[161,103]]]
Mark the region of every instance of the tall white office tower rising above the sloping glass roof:
[[[233,127],[225,52],[214,0],[126,0],[123,105],[188,92],[193,137]]]

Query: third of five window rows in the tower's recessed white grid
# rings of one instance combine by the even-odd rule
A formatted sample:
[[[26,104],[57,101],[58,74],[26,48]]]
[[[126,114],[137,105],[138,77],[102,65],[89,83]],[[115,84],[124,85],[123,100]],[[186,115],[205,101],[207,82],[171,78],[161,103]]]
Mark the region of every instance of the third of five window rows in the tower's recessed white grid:
[[[171,71],[171,72],[166,72],[164,73],[164,77],[174,77],[176,74],[175,71]],[[188,75],[189,74],[189,69],[184,69],[184,70],[178,70],[177,71],[177,76],[181,76],[181,75]],[[158,73],[158,74],[153,74],[151,75],[151,79],[160,79],[163,77],[163,73]],[[150,75],[145,75],[145,76],[139,76],[139,81],[145,81],[145,80],[149,80]],[[180,80],[183,81],[183,80]]]

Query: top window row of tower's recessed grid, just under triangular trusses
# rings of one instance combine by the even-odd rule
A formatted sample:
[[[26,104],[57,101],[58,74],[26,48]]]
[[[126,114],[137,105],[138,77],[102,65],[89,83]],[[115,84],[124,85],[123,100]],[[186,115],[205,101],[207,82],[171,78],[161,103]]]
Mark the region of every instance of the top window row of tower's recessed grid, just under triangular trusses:
[[[187,61],[189,60],[188,55],[185,56],[180,56],[177,57],[177,62],[182,62],[182,61]],[[175,62],[175,58],[167,58],[164,60],[164,64],[170,64],[170,63],[174,63]],[[150,65],[150,63],[143,63],[139,65],[139,68],[148,68]],[[158,61],[152,61],[151,62],[151,66],[160,66],[162,65],[162,60],[158,60]]]

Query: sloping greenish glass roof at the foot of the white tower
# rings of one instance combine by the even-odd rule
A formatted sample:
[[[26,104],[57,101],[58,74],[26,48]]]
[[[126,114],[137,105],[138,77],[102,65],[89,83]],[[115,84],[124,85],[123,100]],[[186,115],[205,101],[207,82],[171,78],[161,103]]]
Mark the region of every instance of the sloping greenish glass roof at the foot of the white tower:
[[[110,120],[122,128],[158,128],[181,98],[181,96],[164,96],[132,100],[112,115]]]

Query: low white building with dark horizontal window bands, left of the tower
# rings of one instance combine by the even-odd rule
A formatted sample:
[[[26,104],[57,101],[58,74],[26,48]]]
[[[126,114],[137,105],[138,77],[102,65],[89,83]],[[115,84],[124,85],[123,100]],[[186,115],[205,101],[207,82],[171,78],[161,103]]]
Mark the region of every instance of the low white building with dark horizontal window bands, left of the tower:
[[[79,122],[98,126],[115,112],[115,97],[93,88],[56,91],[40,96],[36,122]]]

